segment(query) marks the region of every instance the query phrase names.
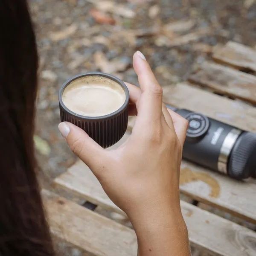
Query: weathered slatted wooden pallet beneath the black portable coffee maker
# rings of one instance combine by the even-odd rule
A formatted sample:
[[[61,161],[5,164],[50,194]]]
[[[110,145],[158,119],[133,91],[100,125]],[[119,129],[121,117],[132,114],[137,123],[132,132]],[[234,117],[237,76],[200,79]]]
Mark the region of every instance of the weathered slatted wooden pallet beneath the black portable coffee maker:
[[[213,61],[205,62],[189,77],[197,86],[186,82],[164,87],[164,101],[247,131],[256,131],[256,108],[249,104],[256,103],[255,72],[256,51],[229,42],[216,48]],[[128,139],[134,122],[134,118],[130,119],[128,131],[114,147]],[[80,160],[54,183],[58,188],[125,216]],[[255,179],[239,182],[182,161],[180,193],[256,224]],[[136,236],[131,228],[47,191],[43,195],[52,233],[56,236],[96,256],[136,255]],[[255,231],[189,202],[181,201],[181,208],[191,244],[209,253],[207,255],[256,256]]]

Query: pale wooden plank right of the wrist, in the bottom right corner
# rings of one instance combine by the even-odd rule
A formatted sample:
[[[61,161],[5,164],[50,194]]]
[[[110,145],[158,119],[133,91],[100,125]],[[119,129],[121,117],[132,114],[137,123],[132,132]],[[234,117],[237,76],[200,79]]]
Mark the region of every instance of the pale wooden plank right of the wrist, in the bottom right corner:
[[[181,201],[191,245],[207,255],[256,256],[256,233]]]

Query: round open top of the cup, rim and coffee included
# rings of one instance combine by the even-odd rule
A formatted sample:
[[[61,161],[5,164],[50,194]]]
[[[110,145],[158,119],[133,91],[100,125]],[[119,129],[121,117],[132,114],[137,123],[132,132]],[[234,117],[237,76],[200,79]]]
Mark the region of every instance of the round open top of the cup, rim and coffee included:
[[[81,87],[86,94],[80,97]],[[129,102],[125,83],[115,76],[99,72],[71,78],[63,84],[58,96],[61,107],[81,119],[108,118],[121,112]]]

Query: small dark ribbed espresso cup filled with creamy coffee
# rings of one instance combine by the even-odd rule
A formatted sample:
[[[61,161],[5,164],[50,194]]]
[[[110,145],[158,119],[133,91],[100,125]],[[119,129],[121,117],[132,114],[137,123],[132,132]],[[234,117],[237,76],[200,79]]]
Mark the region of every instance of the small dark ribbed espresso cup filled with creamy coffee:
[[[58,93],[61,122],[83,129],[103,148],[117,143],[128,126],[129,91],[105,73],[85,73],[65,82]]]

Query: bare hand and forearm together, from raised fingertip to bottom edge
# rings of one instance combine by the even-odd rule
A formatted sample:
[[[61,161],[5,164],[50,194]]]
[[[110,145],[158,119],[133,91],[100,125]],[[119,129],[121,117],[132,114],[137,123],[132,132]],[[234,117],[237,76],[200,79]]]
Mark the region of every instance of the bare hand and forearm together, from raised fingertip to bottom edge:
[[[138,239],[138,256],[190,256],[180,209],[179,176],[187,121],[163,105],[163,90],[147,61],[135,53],[140,88],[127,84],[131,136],[107,151],[68,122],[59,129],[70,149],[98,178],[109,198],[126,212]]]

